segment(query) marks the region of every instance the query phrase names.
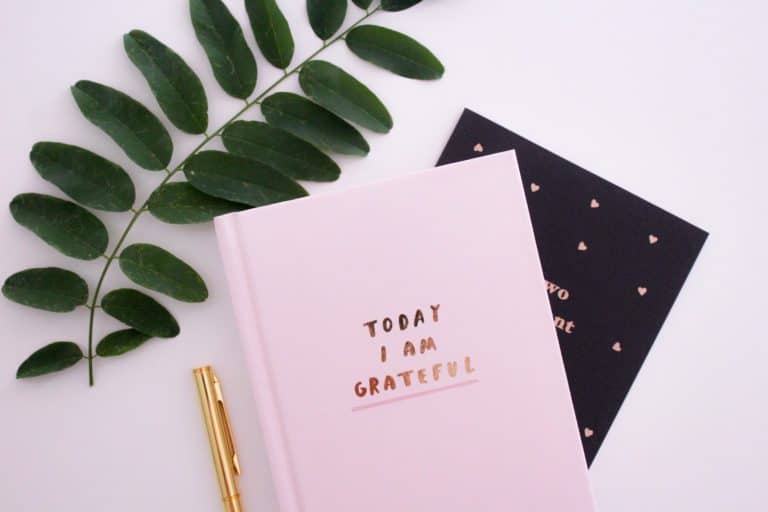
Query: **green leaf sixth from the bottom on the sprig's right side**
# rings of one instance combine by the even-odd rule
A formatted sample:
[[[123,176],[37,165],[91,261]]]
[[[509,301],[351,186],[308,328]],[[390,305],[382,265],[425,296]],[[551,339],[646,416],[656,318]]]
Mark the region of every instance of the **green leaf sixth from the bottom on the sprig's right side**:
[[[335,181],[341,174],[336,162],[315,146],[266,123],[237,121],[224,130],[221,138],[232,153],[297,180]]]

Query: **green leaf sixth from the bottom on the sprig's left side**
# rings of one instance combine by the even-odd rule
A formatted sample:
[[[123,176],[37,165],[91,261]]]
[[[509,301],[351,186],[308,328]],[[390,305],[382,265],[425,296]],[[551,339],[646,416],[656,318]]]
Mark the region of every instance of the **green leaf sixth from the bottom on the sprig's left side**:
[[[208,128],[208,100],[203,84],[184,59],[141,30],[123,36],[125,53],[144,78],[168,119],[181,131]]]

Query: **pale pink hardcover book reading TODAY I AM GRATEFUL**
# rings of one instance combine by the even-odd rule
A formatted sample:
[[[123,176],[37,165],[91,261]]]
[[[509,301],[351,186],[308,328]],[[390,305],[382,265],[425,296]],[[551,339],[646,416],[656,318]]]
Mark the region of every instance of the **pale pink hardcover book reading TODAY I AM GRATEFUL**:
[[[216,232],[283,512],[593,510],[514,152]]]

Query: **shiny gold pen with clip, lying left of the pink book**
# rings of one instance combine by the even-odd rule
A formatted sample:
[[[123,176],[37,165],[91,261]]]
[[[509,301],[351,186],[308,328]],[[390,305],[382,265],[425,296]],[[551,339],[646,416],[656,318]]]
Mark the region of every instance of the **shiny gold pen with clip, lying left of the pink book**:
[[[221,383],[210,366],[195,368],[195,383],[203,408],[203,418],[211,443],[213,464],[216,478],[221,488],[221,499],[226,512],[242,512],[240,491],[237,489],[237,477],[240,475],[240,463],[237,460],[235,442],[229,425]]]

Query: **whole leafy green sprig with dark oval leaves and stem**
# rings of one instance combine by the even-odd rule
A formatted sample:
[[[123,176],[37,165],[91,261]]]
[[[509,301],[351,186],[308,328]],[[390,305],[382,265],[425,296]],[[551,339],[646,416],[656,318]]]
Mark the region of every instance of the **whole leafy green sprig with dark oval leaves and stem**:
[[[173,166],[171,136],[147,106],[100,83],[81,80],[71,87],[83,116],[133,163],[165,171],[145,201],[136,204],[133,181],[123,168],[127,162],[112,162],[61,142],[38,142],[32,147],[30,160],[40,176],[74,202],[44,194],[19,194],[11,201],[11,215],[65,255],[104,261],[101,273],[95,274],[93,296],[82,277],[57,267],[29,268],[5,280],[2,293],[11,301],[51,312],[71,312],[83,306],[82,316],[87,320],[87,355],[71,341],[57,341],[29,356],[18,368],[18,378],[57,372],[85,359],[93,385],[96,356],[120,356],[153,337],[172,338],[180,333],[174,316],[142,291],[121,288],[102,296],[112,267],[119,266],[133,283],[180,301],[197,303],[208,298],[202,277],[178,256],[146,243],[124,247],[144,212],[169,224],[195,224],[304,197],[308,193],[297,180],[332,182],[339,178],[339,165],[326,153],[369,153],[368,142],[353,125],[377,133],[392,129],[392,117],[376,94],[338,66],[315,60],[327,47],[344,40],[359,57],[410,78],[432,80],[444,72],[440,61],[410,37],[359,25],[377,11],[401,11],[420,0],[382,0],[375,8],[372,0],[353,0],[367,12],[358,13],[360,17],[351,24],[354,28],[344,30],[346,0],[304,0],[312,30],[323,44],[293,68],[293,35],[276,0],[244,1],[261,53],[283,73],[252,96],[258,70],[241,25],[222,0],[189,0],[192,27],[216,81],[230,96],[245,100],[245,106],[236,107],[229,120],[215,129],[208,126],[206,91],[185,60],[146,32],[133,30],[123,37],[127,56],[165,116],[179,130],[197,136],[197,141],[187,141],[194,149]],[[293,75],[298,75],[306,97],[277,92]],[[260,105],[267,122],[243,120],[255,105]],[[227,152],[211,150],[211,143],[219,137]],[[187,181],[175,179],[181,173]],[[117,232],[113,247],[109,247],[105,224],[86,208],[130,212],[124,216],[128,220]],[[95,344],[95,315],[99,312],[128,328],[107,334]]]

